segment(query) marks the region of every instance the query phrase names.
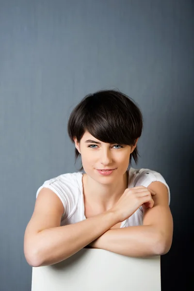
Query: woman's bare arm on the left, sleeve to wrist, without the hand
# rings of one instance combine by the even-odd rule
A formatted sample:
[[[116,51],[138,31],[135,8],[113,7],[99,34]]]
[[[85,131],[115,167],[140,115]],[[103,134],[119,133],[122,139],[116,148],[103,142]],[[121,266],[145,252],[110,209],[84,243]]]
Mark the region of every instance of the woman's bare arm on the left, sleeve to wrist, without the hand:
[[[75,224],[60,226],[63,211],[59,197],[43,188],[24,235],[24,254],[30,265],[38,267],[60,262],[118,223],[115,213],[109,210]]]

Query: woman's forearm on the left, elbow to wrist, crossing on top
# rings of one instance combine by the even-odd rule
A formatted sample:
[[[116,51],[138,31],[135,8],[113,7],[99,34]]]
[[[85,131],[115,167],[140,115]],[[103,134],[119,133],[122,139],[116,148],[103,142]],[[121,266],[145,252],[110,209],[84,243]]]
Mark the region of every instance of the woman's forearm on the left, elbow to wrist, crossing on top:
[[[75,224],[44,229],[31,241],[29,264],[38,267],[67,259],[116,223],[116,215],[105,211]]]

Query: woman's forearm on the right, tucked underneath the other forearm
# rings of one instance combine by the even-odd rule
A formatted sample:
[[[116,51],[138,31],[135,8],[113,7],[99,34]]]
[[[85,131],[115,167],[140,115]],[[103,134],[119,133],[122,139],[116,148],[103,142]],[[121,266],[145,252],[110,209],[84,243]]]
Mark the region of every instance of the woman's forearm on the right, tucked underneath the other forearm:
[[[162,254],[161,236],[154,226],[110,229],[89,245],[135,258]]]

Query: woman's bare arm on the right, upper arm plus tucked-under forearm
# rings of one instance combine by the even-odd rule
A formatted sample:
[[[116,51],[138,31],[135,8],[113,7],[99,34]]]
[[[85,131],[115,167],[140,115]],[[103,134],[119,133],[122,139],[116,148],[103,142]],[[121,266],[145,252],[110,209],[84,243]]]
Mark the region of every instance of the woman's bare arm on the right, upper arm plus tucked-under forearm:
[[[173,219],[168,205],[166,186],[152,182],[148,189],[156,195],[154,206],[144,206],[143,226],[110,229],[89,245],[129,257],[149,257],[166,254],[172,244]]]

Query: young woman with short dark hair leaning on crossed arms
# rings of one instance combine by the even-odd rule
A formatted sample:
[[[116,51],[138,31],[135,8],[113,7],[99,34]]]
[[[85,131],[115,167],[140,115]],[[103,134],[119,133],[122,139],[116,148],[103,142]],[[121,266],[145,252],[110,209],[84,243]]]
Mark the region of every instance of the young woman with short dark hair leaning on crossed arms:
[[[169,251],[169,187],[160,173],[130,166],[142,129],[140,109],[121,92],[96,92],[74,108],[68,134],[82,167],[37,190],[24,236],[31,266],[60,262],[87,245],[129,257]]]

